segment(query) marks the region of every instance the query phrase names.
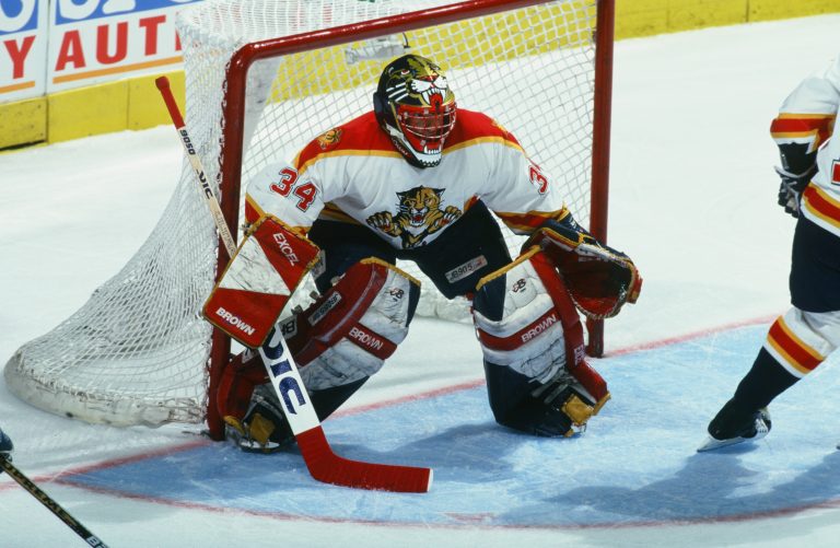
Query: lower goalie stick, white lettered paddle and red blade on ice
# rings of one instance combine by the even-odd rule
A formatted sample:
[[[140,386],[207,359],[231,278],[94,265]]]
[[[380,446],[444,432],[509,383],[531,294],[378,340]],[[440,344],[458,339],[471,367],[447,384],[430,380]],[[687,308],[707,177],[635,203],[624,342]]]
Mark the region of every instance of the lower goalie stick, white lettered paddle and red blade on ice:
[[[313,478],[355,489],[429,491],[433,478],[430,468],[351,460],[332,452],[280,329],[269,335],[259,354]]]

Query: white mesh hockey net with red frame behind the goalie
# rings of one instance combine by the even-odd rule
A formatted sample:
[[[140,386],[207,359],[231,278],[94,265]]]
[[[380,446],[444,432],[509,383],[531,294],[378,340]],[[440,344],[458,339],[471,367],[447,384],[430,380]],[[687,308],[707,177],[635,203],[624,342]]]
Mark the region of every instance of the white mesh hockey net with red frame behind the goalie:
[[[382,67],[413,53],[444,68],[459,106],[510,129],[575,218],[606,236],[611,0],[451,1],[206,0],[178,14],[187,125],[232,229],[262,165],[371,109]],[[11,358],[14,394],[90,422],[206,420],[220,435],[207,401],[231,347],[199,311],[228,257],[194,177],[185,161],[135,257]],[[510,245],[515,256],[520,242]],[[430,282],[418,313],[468,317]]]

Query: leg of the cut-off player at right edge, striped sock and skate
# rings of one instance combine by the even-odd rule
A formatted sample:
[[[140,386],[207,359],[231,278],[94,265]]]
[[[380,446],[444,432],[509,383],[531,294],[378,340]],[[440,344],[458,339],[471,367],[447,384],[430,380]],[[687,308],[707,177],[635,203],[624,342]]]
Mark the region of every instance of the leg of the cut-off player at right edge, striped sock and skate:
[[[794,234],[790,288],[793,307],[770,327],[751,369],[710,422],[712,440],[701,450],[767,434],[767,406],[840,345],[840,238],[804,218]]]

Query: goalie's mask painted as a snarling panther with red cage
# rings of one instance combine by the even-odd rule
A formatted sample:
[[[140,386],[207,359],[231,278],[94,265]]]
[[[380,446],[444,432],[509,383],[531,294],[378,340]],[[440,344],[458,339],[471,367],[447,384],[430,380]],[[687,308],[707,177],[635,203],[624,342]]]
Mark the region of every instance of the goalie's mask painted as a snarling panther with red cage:
[[[380,126],[417,167],[441,163],[443,143],[455,126],[456,108],[455,94],[441,68],[416,55],[388,63],[373,94]]]

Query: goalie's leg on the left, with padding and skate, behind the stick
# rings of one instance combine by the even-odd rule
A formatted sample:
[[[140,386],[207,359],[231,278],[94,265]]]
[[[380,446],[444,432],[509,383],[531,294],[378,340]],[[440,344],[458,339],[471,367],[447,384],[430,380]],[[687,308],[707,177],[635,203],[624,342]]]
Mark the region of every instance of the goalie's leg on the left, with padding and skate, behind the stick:
[[[418,282],[394,267],[394,252],[369,241],[369,233],[346,223],[315,223],[310,237],[322,249],[314,271],[322,295],[281,322],[322,420],[381,369],[405,338],[417,306]],[[220,412],[246,450],[270,451],[292,438],[265,382],[259,357],[246,351],[220,383]]]

